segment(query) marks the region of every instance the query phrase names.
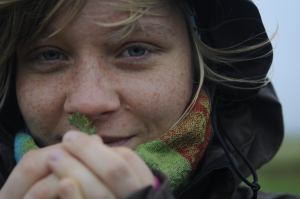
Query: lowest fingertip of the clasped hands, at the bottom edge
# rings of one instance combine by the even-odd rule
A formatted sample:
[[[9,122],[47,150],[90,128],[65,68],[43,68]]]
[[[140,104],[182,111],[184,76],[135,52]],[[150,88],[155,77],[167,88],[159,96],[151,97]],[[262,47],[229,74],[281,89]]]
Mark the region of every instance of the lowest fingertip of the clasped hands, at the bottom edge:
[[[60,199],[83,199],[80,188],[75,180],[64,178],[59,183],[58,195]]]

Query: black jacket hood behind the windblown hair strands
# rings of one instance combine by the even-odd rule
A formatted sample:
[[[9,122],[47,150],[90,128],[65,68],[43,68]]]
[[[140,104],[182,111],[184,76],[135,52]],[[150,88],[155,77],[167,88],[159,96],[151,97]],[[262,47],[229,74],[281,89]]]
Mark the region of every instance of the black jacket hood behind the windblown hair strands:
[[[201,35],[201,40],[216,49],[238,49],[260,44],[268,40],[266,30],[257,7],[251,0],[187,0]],[[234,47],[236,46],[236,47]],[[271,44],[239,53],[231,58],[253,59],[212,67],[215,72],[228,77],[259,80],[266,77],[272,64]],[[269,53],[269,54],[268,54]],[[267,56],[265,56],[268,54]],[[257,57],[262,57],[257,59]],[[209,64],[208,64],[209,65]],[[234,87],[254,88],[262,84],[232,83]],[[259,89],[243,90],[219,87],[222,98],[246,99],[258,93]]]

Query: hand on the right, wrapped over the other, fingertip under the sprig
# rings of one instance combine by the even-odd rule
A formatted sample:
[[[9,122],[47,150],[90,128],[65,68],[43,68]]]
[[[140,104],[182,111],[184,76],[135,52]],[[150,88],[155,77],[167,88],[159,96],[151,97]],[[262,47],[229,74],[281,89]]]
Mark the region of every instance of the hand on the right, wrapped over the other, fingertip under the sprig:
[[[64,150],[48,155],[48,166],[61,182],[77,184],[69,194],[78,196],[80,192],[78,198],[124,198],[154,185],[150,169],[129,148],[110,148],[99,136],[75,131],[64,136],[62,145]],[[67,197],[60,195],[61,199]]]

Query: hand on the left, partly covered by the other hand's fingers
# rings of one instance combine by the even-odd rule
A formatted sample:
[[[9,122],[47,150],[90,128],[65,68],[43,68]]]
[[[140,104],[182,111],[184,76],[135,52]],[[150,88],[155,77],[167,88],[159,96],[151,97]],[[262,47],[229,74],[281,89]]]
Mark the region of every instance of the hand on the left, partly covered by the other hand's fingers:
[[[1,189],[0,199],[56,198],[59,179],[51,175],[47,166],[47,157],[53,150],[64,147],[56,144],[26,153]]]

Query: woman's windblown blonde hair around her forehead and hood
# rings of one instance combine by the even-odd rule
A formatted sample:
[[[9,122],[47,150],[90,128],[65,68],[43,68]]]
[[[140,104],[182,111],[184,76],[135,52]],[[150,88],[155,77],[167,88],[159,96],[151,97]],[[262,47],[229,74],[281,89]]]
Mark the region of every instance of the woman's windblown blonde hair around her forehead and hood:
[[[120,3],[121,2],[121,3]],[[125,39],[135,30],[136,26],[140,25],[139,19],[143,15],[167,16],[168,11],[173,8],[180,9],[186,19],[188,31],[190,34],[191,49],[193,54],[193,65],[195,67],[196,79],[198,80],[198,90],[194,95],[189,107],[183,113],[181,118],[173,126],[177,125],[189,113],[190,109],[196,102],[200,89],[203,87],[204,79],[220,83],[229,87],[234,87],[230,82],[241,83],[258,83],[262,87],[268,83],[266,78],[259,80],[235,79],[214,72],[205,60],[214,63],[222,63],[231,65],[235,62],[249,61],[249,58],[230,58],[231,55],[243,52],[249,52],[254,49],[261,48],[270,43],[266,40],[260,44],[237,48],[240,44],[227,49],[214,49],[203,43],[195,33],[195,27],[191,21],[189,12],[183,1],[180,0],[119,0],[118,3],[106,2],[112,8],[122,11],[128,11],[129,17],[123,21],[115,23],[99,23],[106,27],[123,26],[121,29],[111,35],[113,42],[119,39]],[[2,0],[0,1],[0,109],[3,107],[4,101],[10,87],[12,77],[12,68],[15,64],[14,53],[18,46],[26,45],[36,38],[41,31],[47,26],[55,14],[64,6],[69,6],[64,21],[61,26],[49,37],[57,34],[62,30],[83,8],[85,0]],[[155,9],[166,6],[168,9]],[[158,11],[153,11],[158,10]],[[268,56],[272,51],[263,56]],[[263,57],[262,56],[262,57]],[[251,58],[260,59],[261,57]],[[262,84],[262,85],[261,85]],[[236,88],[236,87],[235,87]],[[254,87],[255,88],[255,87]]]

